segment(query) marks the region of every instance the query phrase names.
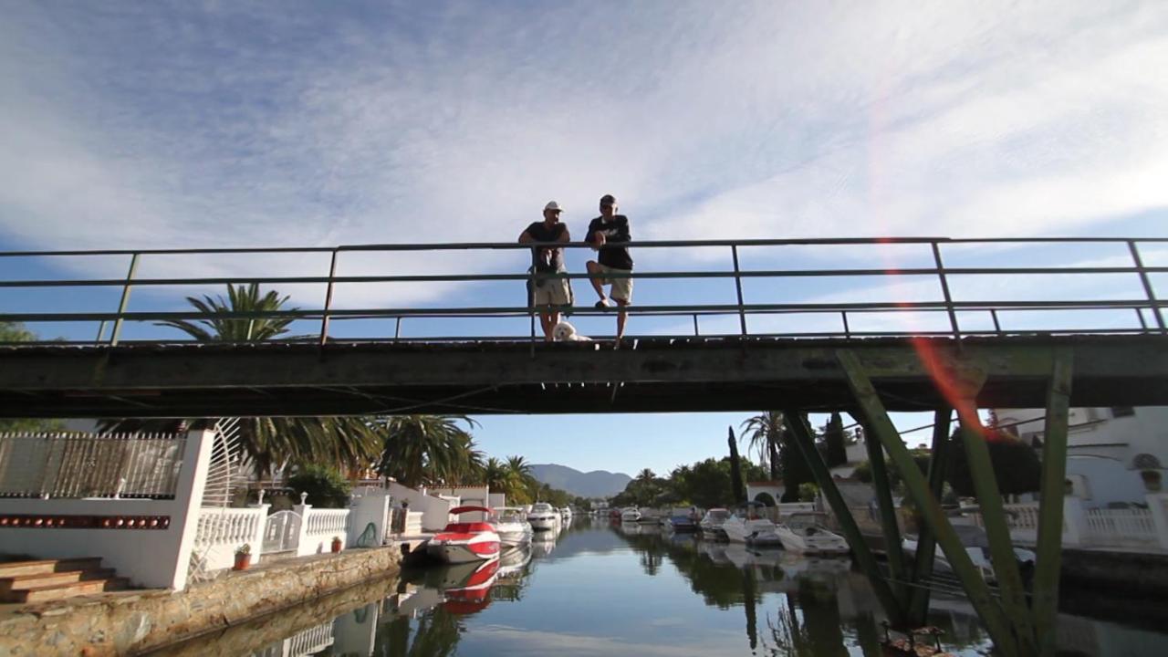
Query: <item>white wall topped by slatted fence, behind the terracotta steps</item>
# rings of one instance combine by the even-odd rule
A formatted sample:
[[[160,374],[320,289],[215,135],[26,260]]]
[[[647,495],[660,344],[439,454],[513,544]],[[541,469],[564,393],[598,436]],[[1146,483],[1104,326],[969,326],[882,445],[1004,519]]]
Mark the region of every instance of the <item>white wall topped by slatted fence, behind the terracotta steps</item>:
[[[0,436],[0,546],[100,556],[137,586],[186,587],[213,436]]]

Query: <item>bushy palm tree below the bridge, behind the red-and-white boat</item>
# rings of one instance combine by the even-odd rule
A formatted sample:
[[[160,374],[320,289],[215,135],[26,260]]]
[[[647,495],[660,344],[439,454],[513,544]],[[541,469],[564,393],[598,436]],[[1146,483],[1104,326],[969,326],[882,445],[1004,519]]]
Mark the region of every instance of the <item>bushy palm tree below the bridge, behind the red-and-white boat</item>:
[[[378,420],[384,443],[377,472],[403,485],[453,484],[470,479],[482,468],[482,452],[474,449],[478,422],[465,415],[391,415]]]

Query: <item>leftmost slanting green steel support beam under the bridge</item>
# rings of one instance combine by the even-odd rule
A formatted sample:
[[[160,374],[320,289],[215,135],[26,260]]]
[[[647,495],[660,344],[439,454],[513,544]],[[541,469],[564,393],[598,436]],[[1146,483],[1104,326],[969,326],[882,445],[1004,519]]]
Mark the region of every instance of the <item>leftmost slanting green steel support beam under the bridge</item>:
[[[827,504],[832,507],[832,512],[835,513],[835,518],[840,523],[840,531],[843,532],[843,538],[851,546],[851,554],[856,559],[856,565],[868,575],[868,581],[871,582],[881,607],[889,615],[889,622],[896,627],[905,627],[904,607],[902,607],[901,600],[896,597],[896,594],[892,593],[892,588],[888,586],[888,580],[884,579],[884,574],[880,570],[880,565],[876,563],[876,556],[872,555],[868,548],[868,544],[864,542],[864,537],[860,533],[856,519],[851,517],[851,510],[848,509],[847,502],[840,495],[840,489],[835,486],[832,472],[828,470],[827,464],[823,463],[819,450],[815,449],[815,438],[812,437],[811,429],[804,422],[802,415],[797,409],[784,410],[783,421],[792,436],[794,436],[795,447],[799,448],[799,452],[807,459],[807,465],[811,466],[820,492],[823,493]]]

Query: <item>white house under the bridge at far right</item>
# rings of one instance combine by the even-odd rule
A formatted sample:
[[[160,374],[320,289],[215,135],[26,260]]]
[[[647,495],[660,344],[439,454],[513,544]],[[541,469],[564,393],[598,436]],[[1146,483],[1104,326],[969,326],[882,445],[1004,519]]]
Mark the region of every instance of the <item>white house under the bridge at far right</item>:
[[[1043,409],[995,409],[1022,440],[1043,437]],[[1166,478],[1168,407],[1072,408],[1066,478],[1087,509],[1143,503]]]

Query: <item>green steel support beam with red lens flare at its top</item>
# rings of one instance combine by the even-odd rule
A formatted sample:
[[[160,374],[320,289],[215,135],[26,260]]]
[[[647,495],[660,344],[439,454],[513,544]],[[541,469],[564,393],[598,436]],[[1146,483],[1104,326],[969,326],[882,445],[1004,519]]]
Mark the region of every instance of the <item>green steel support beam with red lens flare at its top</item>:
[[[994,563],[994,575],[997,579],[1002,609],[1014,622],[1021,646],[1030,652],[1037,652],[1034,614],[1027,603],[1026,587],[1022,586],[1017,558],[1014,555],[1014,540],[1010,538],[1010,527],[1006,523],[1002,493],[997,487],[997,478],[994,476],[994,464],[989,458],[985,428],[978,420],[976,404],[973,403],[973,400],[966,402],[965,409],[959,409],[958,417],[961,422],[961,442],[965,443],[965,456],[969,463],[973,490],[978,493],[981,519],[986,525],[986,535],[989,539],[989,559]]]

